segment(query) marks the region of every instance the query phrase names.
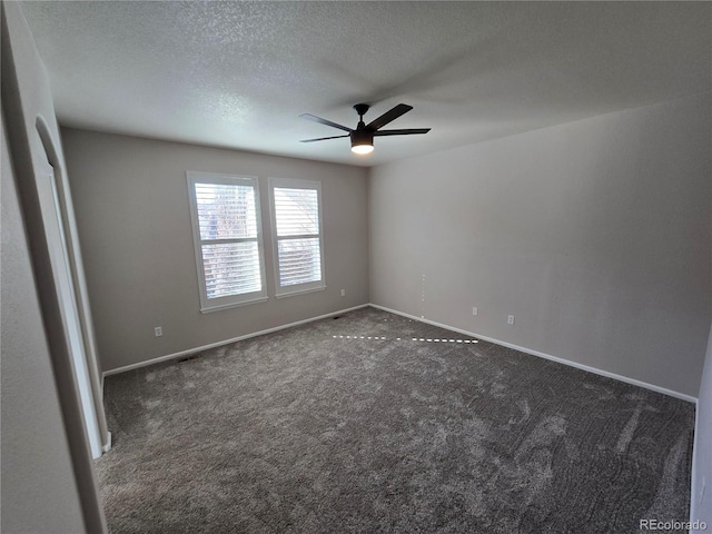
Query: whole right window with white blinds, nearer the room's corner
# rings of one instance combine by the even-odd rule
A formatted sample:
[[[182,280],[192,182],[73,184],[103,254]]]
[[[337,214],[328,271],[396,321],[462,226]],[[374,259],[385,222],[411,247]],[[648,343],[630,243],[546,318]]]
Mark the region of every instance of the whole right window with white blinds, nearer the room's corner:
[[[324,289],[322,184],[269,180],[277,297]]]

